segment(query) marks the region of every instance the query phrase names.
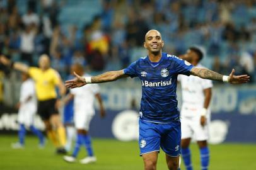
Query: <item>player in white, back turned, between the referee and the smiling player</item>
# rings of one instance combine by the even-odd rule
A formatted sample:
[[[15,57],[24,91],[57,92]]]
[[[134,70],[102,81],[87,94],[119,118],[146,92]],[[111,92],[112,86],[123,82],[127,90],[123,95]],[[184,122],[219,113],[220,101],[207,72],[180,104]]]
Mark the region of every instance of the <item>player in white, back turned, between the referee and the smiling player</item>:
[[[71,69],[80,76],[88,76],[87,74],[84,74],[83,66],[80,64],[74,64]],[[95,109],[93,107],[95,98],[98,100],[101,116],[105,116],[105,110],[103,108],[102,98],[100,96],[100,88],[98,84],[90,84],[90,86],[71,89],[70,96],[74,97],[74,125],[78,135],[72,156],[64,156],[63,158],[67,162],[76,161],[79,149],[81,145],[84,145],[86,147],[88,156],[81,159],[80,163],[88,164],[90,162],[95,162],[96,157],[93,154],[88,130],[91,119],[95,115]]]

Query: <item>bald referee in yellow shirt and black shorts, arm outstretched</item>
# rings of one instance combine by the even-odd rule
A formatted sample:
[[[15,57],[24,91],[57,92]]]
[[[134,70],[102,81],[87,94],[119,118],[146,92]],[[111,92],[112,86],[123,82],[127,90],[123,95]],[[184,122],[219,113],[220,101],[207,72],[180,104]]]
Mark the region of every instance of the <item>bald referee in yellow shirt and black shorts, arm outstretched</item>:
[[[65,94],[66,88],[59,73],[50,67],[48,55],[43,54],[40,56],[39,67],[28,67],[28,65],[21,62],[13,62],[4,55],[0,56],[0,61],[6,66],[29,74],[35,81],[38,99],[37,113],[45,123],[47,136],[54,143],[57,154],[65,154],[66,132],[57,110],[59,102],[57,101],[55,87],[59,88],[62,96]]]

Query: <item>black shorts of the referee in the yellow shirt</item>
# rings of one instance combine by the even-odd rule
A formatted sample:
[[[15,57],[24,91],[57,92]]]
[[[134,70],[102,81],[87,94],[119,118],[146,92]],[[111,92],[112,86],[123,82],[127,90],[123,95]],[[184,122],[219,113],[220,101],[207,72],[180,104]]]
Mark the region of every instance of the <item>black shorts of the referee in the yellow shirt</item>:
[[[51,115],[57,115],[58,110],[55,108],[56,99],[47,99],[38,101],[37,113],[42,120],[49,120]]]

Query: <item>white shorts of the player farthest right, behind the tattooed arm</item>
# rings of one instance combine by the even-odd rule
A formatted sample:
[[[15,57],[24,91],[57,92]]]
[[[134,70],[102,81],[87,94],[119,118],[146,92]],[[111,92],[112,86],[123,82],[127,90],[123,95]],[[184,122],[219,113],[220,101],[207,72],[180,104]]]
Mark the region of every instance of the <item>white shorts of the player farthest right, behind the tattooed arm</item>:
[[[202,126],[200,122],[201,115],[198,110],[182,110],[181,115],[188,115],[184,113],[190,111],[191,115],[195,116],[181,116],[182,139],[193,138],[196,141],[203,141],[209,139],[209,123],[211,116],[207,116],[206,125]],[[210,115],[208,113],[208,115]]]

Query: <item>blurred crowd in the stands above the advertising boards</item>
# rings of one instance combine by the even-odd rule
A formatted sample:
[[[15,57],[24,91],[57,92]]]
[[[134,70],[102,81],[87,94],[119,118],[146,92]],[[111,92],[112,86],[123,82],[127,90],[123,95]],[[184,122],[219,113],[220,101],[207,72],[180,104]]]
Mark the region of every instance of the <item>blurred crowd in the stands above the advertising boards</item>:
[[[255,77],[255,0],[103,0],[98,14],[82,26],[59,21],[62,8],[79,6],[80,0],[17,2],[0,1],[1,54],[29,65],[49,54],[63,79],[77,62],[91,71],[126,67],[139,57],[149,29],[160,30],[165,51],[180,55],[202,45],[207,67],[222,74],[235,68],[237,74]]]

